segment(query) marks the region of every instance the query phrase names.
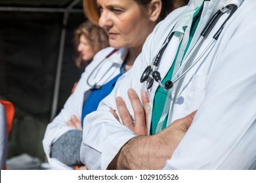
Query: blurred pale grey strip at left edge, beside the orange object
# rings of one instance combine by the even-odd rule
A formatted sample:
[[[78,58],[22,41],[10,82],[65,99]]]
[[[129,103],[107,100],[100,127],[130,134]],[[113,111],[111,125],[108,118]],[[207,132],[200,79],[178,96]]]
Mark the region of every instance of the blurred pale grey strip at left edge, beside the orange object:
[[[7,122],[5,108],[0,103],[0,169],[3,170],[7,158]]]

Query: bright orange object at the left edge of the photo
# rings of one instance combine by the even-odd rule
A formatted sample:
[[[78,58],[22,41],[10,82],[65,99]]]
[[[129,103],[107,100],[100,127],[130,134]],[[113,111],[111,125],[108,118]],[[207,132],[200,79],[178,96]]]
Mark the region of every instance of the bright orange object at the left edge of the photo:
[[[0,103],[5,107],[5,115],[7,120],[7,133],[11,133],[12,120],[14,118],[14,105],[10,101],[0,100]]]

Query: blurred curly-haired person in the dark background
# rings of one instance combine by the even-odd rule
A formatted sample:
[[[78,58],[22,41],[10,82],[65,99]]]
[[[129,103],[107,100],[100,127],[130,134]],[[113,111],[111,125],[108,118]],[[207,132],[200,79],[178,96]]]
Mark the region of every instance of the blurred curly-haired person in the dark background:
[[[87,20],[75,29],[74,44],[77,55],[75,65],[81,70],[81,73],[83,73],[85,67],[93,60],[95,54],[109,46],[108,35],[104,29]],[[77,82],[74,84],[72,93],[76,85]]]

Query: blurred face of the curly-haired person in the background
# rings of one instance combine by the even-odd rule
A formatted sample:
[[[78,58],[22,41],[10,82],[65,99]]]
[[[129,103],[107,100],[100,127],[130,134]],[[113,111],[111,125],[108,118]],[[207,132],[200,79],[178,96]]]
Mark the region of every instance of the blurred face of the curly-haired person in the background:
[[[91,46],[89,40],[87,40],[85,35],[80,36],[77,51],[81,54],[83,61],[89,61],[95,56],[93,47]]]

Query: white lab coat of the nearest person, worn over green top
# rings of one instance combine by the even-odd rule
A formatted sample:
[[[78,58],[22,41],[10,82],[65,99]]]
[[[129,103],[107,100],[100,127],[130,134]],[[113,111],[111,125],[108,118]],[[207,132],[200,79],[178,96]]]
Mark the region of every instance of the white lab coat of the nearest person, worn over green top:
[[[221,2],[205,2],[189,50]],[[213,50],[203,56],[179,81],[175,103],[169,112],[172,115],[168,121],[173,122],[196,109],[198,112],[164,169],[256,168],[256,36],[253,33],[256,29],[256,22],[253,21],[256,17],[255,9],[256,1],[245,0],[224,27]],[[80,156],[89,169],[106,169],[121,146],[135,137],[108,110],[110,107],[116,108],[115,98],[120,95],[134,118],[127,90],[133,88],[137,93],[146,90],[145,84],[139,82],[140,76],[152,64],[183,10],[184,8],[175,10],[158,24],[146,40],[142,53],[128,75],[116,84],[98,110],[85,118]],[[197,56],[212,40],[212,35],[226,17],[227,14],[224,14],[217,22]],[[162,78],[169,71],[178,46],[179,38],[173,37],[158,69]],[[188,65],[190,64],[191,62]],[[157,87],[158,84],[154,82],[152,89],[148,91],[151,105]]]

